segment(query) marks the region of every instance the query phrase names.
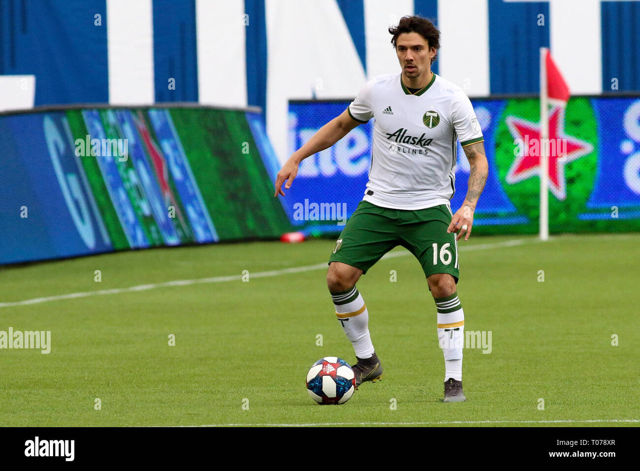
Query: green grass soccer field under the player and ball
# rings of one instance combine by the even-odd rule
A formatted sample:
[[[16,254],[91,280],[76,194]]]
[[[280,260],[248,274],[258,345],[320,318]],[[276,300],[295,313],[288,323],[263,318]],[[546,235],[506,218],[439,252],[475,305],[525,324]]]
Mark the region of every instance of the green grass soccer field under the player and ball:
[[[639,234],[461,241],[465,329],[491,331],[492,351],[465,350],[468,399],[454,404],[441,402],[435,304],[402,248],[358,282],[383,381],[341,406],[308,396],[314,361],[355,361],[326,288],[334,245],[209,245],[0,269],[0,330],[51,331],[49,354],[0,350],[0,426],[639,425]],[[151,286],[59,298],[136,285]],[[43,297],[52,298],[14,304]]]

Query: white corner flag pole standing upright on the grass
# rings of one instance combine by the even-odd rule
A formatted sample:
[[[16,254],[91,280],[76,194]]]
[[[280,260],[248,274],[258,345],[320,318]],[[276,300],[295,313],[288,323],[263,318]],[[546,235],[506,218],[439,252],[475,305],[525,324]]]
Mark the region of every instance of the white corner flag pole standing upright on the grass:
[[[540,240],[549,238],[547,47],[540,48]]]

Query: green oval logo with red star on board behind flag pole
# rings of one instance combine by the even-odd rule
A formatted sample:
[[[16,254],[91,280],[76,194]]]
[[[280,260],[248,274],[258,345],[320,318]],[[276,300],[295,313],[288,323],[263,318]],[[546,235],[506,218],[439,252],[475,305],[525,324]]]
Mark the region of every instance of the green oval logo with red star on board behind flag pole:
[[[502,188],[530,222],[540,217],[540,152],[548,148],[549,229],[577,229],[595,183],[596,119],[587,98],[549,114],[549,135],[540,138],[540,102],[509,100],[495,133],[495,163]]]

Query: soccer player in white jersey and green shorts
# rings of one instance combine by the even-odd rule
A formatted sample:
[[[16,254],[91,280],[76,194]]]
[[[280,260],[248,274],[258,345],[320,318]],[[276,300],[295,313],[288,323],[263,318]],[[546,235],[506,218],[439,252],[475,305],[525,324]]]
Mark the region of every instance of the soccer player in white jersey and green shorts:
[[[421,17],[389,28],[401,73],[377,76],[353,103],[296,151],[275,183],[291,188],[300,161],[332,146],[375,118],[371,170],[363,200],[340,233],[329,259],[327,285],[335,313],[356,353],[356,388],[382,376],[369,335],[369,312],[356,282],[376,261],[402,245],[420,261],[437,310],[444,352],[444,401],[467,399],[462,389],[465,315],[458,298],[458,240],[471,235],[474,211],[488,176],[483,135],[467,95],[431,72],[440,31]],[[468,192],[451,212],[457,140],[469,161]]]

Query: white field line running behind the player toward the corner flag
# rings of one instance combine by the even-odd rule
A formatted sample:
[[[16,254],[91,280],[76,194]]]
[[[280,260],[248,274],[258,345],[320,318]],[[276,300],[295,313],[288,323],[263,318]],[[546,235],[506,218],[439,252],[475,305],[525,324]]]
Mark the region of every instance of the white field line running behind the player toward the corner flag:
[[[470,252],[475,250],[498,249],[500,247],[513,247],[515,245],[532,244],[537,242],[539,242],[538,239],[534,239],[534,238],[530,240],[515,239],[515,240],[508,240],[506,242],[494,242],[493,244],[470,245],[468,247],[460,247],[458,250],[461,252]],[[409,251],[389,252],[388,254],[385,254],[385,256],[383,256],[383,259],[404,257],[408,255],[411,255]],[[265,278],[265,277],[271,277],[271,276],[286,275],[290,273],[301,273],[301,272],[310,272],[314,270],[324,270],[327,268],[328,268],[327,263],[316,263],[315,265],[305,265],[303,267],[293,267],[289,269],[280,269],[280,270],[269,270],[266,272],[255,272],[255,273],[251,273],[250,276],[252,278]],[[196,279],[176,279],[173,281],[164,281],[163,283],[150,283],[148,285],[129,286],[129,288],[112,288],[110,290],[84,291],[79,293],[68,293],[68,294],[60,294],[55,296],[36,297],[33,299],[25,299],[24,301],[0,302],[0,308],[14,308],[16,306],[29,306],[31,304],[42,304],[43,302],[61,301],[63,299],[77,299],[77,298],[89,297],[89,296],[148,291],[148,290],[155,290],[157,288],[169,288],[171,286],[188,286],[188,285],[197,285],[200,283],[223,283],[225,281],[239,281],[242,279],[242,277],[243,277],[242,275],[228,275],[228,276],[213,276],[208,278],[196,278]]]

